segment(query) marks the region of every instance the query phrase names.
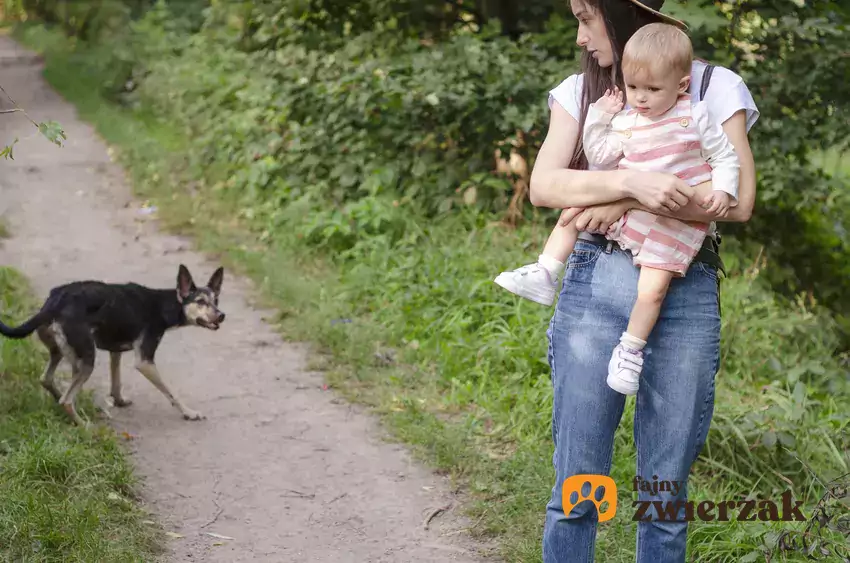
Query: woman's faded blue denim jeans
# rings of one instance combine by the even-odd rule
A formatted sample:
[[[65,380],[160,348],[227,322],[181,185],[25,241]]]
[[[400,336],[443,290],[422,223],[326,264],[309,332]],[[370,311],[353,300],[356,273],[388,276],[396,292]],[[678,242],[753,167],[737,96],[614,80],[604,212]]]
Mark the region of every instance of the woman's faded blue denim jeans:
[[[631,255],[578,240],[567,263],[564,285],[549,325],[549,364],[554,404],[553,462],[557,473],[546,507],[543,560],[590,563],[599,523],[596,508],[582,502],[569,516],[561,495],[576,474],[608,475],[614,431],[626,397],[606,383],[611,352],[626,330],[637,297],[638,274]],[[720,295],[716,270],[693,262],[675,278],[645,348],[640,389],[635,400],[634,439],[637,475],[652,481],[677,481],[671,492],[640,500],[685,501],[691,465],[705,443],[714,411],[714,376],[720,363]],[[633,481],[617,483],[633,490]],[[671,505],[676,506],[676,505]],[[632,518],[631,503],[619,505],[617,518]],[[683,563],[688,523],[638,522],[638,563]]]

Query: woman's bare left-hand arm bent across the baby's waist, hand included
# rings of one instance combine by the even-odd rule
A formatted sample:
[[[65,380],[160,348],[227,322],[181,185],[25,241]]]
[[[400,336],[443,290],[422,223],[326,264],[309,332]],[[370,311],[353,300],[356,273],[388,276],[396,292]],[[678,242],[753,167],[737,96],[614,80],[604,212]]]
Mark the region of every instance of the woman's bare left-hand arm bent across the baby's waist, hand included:
[[[564,209],[588,207],[633,197],[647,209],[673,212],[688,203],[693,189],[670,174],[633,186],[627,170],[571,170],[568,168],[579,127],[557,101],[552,104],[549,131],[537,153],[531,172],[531,203],[537,207]]]

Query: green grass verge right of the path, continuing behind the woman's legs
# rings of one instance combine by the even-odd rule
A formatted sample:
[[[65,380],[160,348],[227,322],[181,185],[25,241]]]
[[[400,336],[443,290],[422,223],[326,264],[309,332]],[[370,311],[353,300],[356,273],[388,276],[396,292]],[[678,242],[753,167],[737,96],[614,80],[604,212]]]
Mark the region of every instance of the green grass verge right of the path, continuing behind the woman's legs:
[[[358,240],[344,254],[308,246],[298,226],[309,209],[279,210],[267,224],[234,213],[210,171],[184,161],[198,150],[142,105],[121,108],[98,94],[96,52],[29,27],[19,37],[44,51],[47,80],[93,123],[128,168],[136,193],[151,199],[165,227],[252,279],[290,339],[315,343],[316,366],[352,401],[373,408],[396,439],[470,493],[474,534],[499,539],[509,561],[539,561],[542,516],[553,484],[551,386],[545,326],[550,311],[514,300],[491,282],[524,263],[545,227],[510,231],[459,212],[400,244]],[[207,197],[192,198],[192,190]],[[411,222],[415,215],[411,214]],[[726,500],[791,489],[806,514],[820,482],[850,471],[847,378],[833,355],[835,335],[812,303],[780,302],[758,282],[758,264],[728,255],[723,283],[723,365],[714,424],[694,468],[691,498]],[[615,440],[612,477],[620,506],[632,493],[633,402]],[[635,525],[626,514],[600,527],[600,560],[634,560]],[[695,522],[698,561],[755,561],[791,523]],[[750,558],[750,559],[747,559]],[[789,558],[801,561],[802,558]],[[824,559],[837,561],[837,559]]]

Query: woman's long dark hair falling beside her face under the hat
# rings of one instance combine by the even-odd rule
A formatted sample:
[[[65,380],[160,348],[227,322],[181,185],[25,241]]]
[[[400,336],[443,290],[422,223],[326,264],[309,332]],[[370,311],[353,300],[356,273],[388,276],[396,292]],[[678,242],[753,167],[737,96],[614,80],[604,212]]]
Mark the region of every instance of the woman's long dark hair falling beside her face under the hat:
[[[611,41],[611,50],[614,53],[614,64],[610,68],[602,68],[586,50],[582,52],[581,70],[584,73],[584,87],[581,93],[579,131],[584,130],[584,122],[590,104],[602,97],[605,90],[616,85],[621,92],[626,91],[620,63],[623,58],[623,49],[634,32],[647,24],[662,21],[655,14],[639,8],[628,0],[583,1],[605,22],[605,31],[608,34],[608,40]],[[575,170],[587,169],[587,156],[584,154],[581,135],[579,135],[578,143],[576,143],[570,168]]]

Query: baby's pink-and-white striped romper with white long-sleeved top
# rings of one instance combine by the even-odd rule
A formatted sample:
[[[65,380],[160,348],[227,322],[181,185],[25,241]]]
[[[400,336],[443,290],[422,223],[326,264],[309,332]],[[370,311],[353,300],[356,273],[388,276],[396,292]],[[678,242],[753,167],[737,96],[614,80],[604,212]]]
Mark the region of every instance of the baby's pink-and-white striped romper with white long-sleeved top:
[[[667,113],[652,118],[633,109],[612,115],[591,106],[583,142],[591,165],[672,173],[691,186],[712,181],[713,189],[729,193],[731,205],[737,205],[735,149],[723,129],[711,123],[707,106],[703,102],[692,106],[689,95],[680,96]],[[606,236],[630,250],[635,265],[683,277],[708,228],[707,223],[633,209]]]

